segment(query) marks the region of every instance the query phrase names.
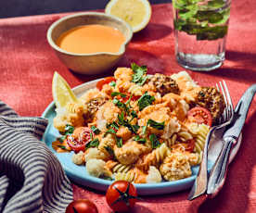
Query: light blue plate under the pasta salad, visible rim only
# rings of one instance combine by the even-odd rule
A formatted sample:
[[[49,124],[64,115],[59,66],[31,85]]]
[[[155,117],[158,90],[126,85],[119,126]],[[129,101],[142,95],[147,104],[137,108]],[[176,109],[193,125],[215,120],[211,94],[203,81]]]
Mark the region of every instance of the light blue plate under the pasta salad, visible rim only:
[[[89,81],[83,83],[82,85],[75,87],[73,90],[74,94],[81,96],[86,90],[94,88],[96,86],[96,81]],[[79,183],[83,186],[89,186],[96,190],[107,191],[111,181],[99,179],[89,175],[84,166],[77,166],[72,163],[71,156],[73,152],[70,153],[57,153],[52,148],[52,142],[56,141],[56,138],[59,136],[58,130],[53,126],[53,119],[56,116],[55,104],[52,102],[48,107],[46,107],[42,117],[48,119],[48,126],[45,130],[43,141],[49,147],[49,149],[58,157],[59,162],[61,163],[64,171],[67,176],[70,178],[70,181]],[[239,140],[241,141],[241,140]],[[240,143],[237,143],[238,145]],[[215,148],[216,149],[216,148]],[[238,147],[237,147],[238,149]],[[216,157],[216,150],[214,150],[214,157]],[[211,150],[210,150],[211,154]],[[232,152],[232,159],[237,154],[237,150]],[[214,157],[211,157],[213,159]],[[212,160],[209,160],[208,169],[211,169]],[[159,183],[144,183],[144,184],[134,184],[137,189],[137,193],[141,195],[153,195],[153,194],[170,194],[182,190],[186,190],[193,185],[193,182],[196,179],[198,173],[198,166],[192,168],[192,176],[186,179],[182,179],[174,182],[159,182]]]

